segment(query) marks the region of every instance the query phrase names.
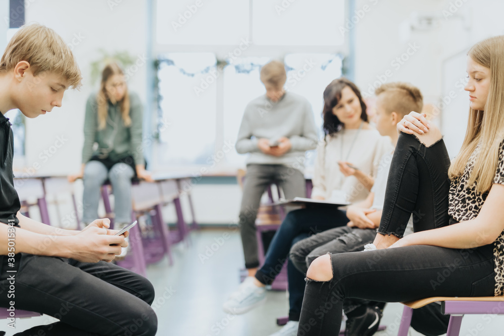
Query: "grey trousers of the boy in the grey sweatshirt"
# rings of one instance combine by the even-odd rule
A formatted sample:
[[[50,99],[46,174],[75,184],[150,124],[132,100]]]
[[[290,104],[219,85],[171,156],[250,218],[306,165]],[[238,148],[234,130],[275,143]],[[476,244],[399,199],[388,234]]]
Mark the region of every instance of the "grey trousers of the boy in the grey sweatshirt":
[[[303,173],[284,165],[248,164],[240,208],[240,234],[245,256],[245,268],[259,266],[256,237],[256,217],[264,191],[273,182],[278,182],[285,198],[306,196]]]

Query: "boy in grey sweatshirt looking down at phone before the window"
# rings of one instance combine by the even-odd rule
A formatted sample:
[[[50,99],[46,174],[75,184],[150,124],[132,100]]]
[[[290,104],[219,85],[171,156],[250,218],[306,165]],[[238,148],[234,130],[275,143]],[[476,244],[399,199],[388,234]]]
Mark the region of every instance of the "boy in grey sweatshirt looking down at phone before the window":
[[[286,79],[283,63],[263,66],[266,94],[246,106],[236,141],[238,153],[250,153],[239,218],[245,267],[252,277],[259,266],[255,222],[262,194],[278,182],[286,198],[305,197],[304,154],[317,147],[311,105],[284,91]]]

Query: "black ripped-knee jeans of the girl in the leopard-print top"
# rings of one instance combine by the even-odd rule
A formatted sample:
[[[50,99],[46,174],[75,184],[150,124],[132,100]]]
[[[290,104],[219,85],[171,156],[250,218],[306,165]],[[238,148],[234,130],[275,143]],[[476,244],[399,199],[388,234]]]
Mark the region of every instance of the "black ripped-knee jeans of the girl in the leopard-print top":
[[[401,133],[392,159],[379,232],[449,225],[448,167],[443,140],[425,147]],[[455,224],[456,225],[456,224]],[[433,296],[493,296],[493,244],[473,249],[415,245],[331,256],[333,279],[308,280],[298,335],[334,335],[346,298],[404,302]]]

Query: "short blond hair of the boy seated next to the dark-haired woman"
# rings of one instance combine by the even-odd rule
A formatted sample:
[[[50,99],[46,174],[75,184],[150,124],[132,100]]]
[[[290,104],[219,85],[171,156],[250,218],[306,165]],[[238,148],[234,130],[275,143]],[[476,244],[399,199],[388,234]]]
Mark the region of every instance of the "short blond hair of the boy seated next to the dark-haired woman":
[[[421,113],[423,96],[420,90],[404,82],[386,83],[374,90],[376,96],[385,95],[385,111],[396,112],[402,116],[415,111]]]

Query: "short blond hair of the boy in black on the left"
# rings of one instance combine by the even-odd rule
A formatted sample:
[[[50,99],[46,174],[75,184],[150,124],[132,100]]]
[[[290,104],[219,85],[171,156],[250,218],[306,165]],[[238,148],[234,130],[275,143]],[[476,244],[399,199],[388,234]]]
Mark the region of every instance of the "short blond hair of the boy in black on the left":
[[[72,50],[54,30],[40,24],[22,26],[11,38],[0,60],[0,73],[27,61],[33,76],[43,72],[61,75],[70,87],[79,88],[82,76]]]

